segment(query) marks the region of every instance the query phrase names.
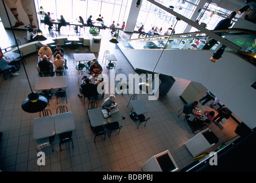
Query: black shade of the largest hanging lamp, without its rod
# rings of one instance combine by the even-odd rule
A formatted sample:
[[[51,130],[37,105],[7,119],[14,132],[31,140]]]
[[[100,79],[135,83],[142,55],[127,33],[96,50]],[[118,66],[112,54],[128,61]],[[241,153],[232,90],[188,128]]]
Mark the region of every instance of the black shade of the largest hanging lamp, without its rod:
[[[31,92],[22,104],[21,108],[27,113],[38,113],[45,109],[48,105],[48,100],[44,96],[39,96],[36,92]]]

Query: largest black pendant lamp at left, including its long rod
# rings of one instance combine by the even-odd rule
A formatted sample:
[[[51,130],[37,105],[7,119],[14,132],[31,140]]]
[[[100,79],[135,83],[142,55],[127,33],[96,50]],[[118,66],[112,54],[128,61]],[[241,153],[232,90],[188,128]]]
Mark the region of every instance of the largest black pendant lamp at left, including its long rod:
[[[5,12],[6,12],[7,18],[8,18],[9,23],[10,23],[11,31],[12,31],[13,37],[15,39],[15,43],[16,43],[16,46],[17,46],[17,49],[18,49],[18,53],[20,54],[20,57],[22,58],[21,51],[18,47],[17,39],[16,39],[15,34],[14,34],[13,26],[11,26],[11,21],[10,21],[10,18],[9,18],[9,14],[7,13],[7,10],[6,10],[5,2],[3,0],[2,0],[2,2],[3,2],[3,6],[5,7]],[[26,78],[28,79],[28,82],[29,82],[28,74],[26,73],[26,67],[24,65],[23,59],[21,59],[21,61],[22,61],[22,65],[23,65],[24,70],[25,70]],[[28,98],[26,98],[24,100],[24,102],[22,102],[21,108],[22,108],[22,110],[24,110],[27,113],[40,112],[41,110],[46,108],[46,106],[48,105],[48,100],[47,100],[46,97],[39,96],[38,93],[33,92],[32,87],[30,85],[30,82],[29,82],[29,87],[30,87],[31,93],[29,93]]]

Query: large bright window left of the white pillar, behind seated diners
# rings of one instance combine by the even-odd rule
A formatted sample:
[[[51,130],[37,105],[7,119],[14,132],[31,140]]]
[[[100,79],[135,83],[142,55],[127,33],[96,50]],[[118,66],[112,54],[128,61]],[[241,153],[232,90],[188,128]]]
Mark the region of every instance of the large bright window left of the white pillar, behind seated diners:
[[[121,24],[125,17],[127,0],[34,0],[38,5],[37,9],[42,6],[44,11],[51,13],[51,18],[60,18],[63,15],[65,20],[70,22],[73,19],[83,17],[86,22],[87,18],[92,15],[95,21],[99,14],[102,15],[104,24],[109,26],[113,21],[115,24]],[[37,11],[38,11],[37,10]]]

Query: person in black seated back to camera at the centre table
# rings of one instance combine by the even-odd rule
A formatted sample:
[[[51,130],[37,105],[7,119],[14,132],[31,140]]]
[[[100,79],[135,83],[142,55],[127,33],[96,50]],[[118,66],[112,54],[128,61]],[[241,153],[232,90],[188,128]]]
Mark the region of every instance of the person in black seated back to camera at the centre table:
[[[96,85],[91,83],[90,79],[86,77],[86,75],[82,78],[83,83],[80,85],[78,97],[82,98],[87,97],[89,101],[91,101],[91,97],[94,97],[96,92]],[[83,96],[81,96],[83,94]]]

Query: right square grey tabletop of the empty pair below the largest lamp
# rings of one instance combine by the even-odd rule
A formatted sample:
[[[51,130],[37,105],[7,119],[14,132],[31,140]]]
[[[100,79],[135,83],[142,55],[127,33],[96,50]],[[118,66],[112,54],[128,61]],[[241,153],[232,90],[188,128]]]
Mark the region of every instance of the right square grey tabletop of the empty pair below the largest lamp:
[[[55,114],[55,133],[60,134],[75,129],[75,123],[72,112]]]

